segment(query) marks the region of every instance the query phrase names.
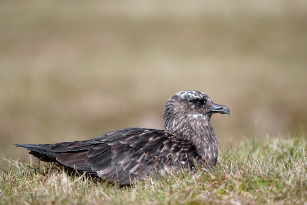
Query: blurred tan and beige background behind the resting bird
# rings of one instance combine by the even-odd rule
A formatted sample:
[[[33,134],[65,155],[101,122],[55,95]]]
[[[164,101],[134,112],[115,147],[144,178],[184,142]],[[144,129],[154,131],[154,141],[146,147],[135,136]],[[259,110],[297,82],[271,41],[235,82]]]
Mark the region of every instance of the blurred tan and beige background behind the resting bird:
[[[2,158],[162,129],[187,89],[230,108],[211,119],[222,150],[306,131],[306,1],[1,1],[0,19]]]

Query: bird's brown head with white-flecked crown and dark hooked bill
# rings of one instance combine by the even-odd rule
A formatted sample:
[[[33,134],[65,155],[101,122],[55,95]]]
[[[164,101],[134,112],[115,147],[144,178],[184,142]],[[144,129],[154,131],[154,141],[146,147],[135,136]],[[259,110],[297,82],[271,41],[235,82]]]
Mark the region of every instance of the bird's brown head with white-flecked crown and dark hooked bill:
[[[229,114],[226,106],[212,102],[208,95],[195,90],[185,90],[170,97],[164,107],[163,126],[166,130],[177,130],[187,123],[209,125],[214,113]]]

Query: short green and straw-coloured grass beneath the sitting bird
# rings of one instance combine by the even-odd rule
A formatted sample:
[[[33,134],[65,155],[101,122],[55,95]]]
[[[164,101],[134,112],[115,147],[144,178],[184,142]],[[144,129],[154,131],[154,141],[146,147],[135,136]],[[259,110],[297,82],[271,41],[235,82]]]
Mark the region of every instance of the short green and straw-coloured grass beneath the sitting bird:
[[[306,139],[254,139],[221,152],[212,172],[199,168],[131,187],[42,162],[11,161],[0,177],[1,204],[305,204]]]

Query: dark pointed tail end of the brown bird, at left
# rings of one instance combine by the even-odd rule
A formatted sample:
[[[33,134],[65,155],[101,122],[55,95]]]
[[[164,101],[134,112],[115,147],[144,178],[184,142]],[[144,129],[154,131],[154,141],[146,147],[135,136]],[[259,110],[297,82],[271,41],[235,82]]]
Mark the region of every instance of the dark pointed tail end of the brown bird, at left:
[[[56,161],[56,157],[60,154],[51,152],[50,149],[54,145],[32,145],[32,144],[14,144],[17,147],[23,147],[30,150],[29,154],[37,157],[41,161]]]

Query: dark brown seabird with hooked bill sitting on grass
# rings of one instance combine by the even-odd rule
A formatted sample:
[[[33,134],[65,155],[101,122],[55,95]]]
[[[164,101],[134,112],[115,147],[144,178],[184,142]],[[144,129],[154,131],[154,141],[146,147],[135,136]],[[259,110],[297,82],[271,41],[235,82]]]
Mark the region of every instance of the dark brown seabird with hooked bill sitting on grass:
[[[209,96],[185,90],[171,96],[163,111],[164,130],[123,128],[89,140],[57,144],[14,144],[41,161],[55,161],[77,172],[130,185],[179,169],[216,166],[218,144],[210,118],[229,114]]]

